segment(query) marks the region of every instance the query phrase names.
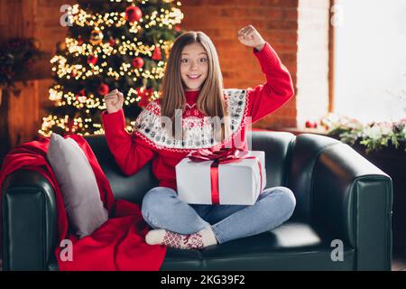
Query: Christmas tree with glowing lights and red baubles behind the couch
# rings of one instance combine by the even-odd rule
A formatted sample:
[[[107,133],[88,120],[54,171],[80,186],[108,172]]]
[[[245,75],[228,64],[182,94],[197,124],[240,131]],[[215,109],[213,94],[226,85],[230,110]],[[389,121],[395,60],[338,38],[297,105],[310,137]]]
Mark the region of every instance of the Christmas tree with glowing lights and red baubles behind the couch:
[[[143,107],[160,97],[171,45],[182,33],[180,5],[172,0],[79,0],[69,7],[68,36],[51,60],[54,107],[38,132],[103,134],[103,97],[113,89],[125,95],[131,131]]]

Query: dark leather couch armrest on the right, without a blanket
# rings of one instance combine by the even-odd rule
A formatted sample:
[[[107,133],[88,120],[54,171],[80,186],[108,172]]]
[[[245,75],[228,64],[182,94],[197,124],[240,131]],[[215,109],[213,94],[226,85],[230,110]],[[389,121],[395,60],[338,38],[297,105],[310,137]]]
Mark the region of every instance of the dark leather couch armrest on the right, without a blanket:
[[[391,270],[392,179],[347,144],[314,165],[311,219],[355,248],[356,270]]]

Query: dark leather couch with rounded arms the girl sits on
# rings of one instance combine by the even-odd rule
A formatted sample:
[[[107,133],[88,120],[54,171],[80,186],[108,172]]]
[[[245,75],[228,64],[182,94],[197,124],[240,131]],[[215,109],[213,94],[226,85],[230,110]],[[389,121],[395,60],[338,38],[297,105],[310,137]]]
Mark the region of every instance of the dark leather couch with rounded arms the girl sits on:
[[[161,270],[391,269],[392,180],[387,174],[326,136],[251,135],[252,148],[266,152],[267,187],[287,186],[296,196],[292,218],[272,231],[203,250],[169,248]],[[158,185],[152,163],[125,177],[105,137],[87,139],[115,198],[141,203],[143,194]],[[55,198],[49,182],[21,170],[7,177],[2,190],[4,269],[57,270]]]

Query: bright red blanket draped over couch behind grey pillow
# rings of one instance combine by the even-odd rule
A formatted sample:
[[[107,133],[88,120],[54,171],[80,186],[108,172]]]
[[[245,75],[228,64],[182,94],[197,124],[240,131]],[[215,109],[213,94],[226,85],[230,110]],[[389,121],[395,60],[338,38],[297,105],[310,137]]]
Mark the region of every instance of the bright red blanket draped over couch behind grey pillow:
[[[41,172],[51,182],[58,210],[60,240],[69,239],[73,244],[72,261],[61,260],[61,257],[66,259],[67,256],[64,249],[66,245],[56,248],[55,255],[60,270],[159,270],[166,247],[149,246],[145,243],[144,237],[149,227],[143,221],[140,207],[126,200],[114,200],[106,175],[86,140],[80,135],[65,137],[67,136],[74,139],[88,157],[96,175],[100,198],[109,211],[110,218],[91,236],[78,239],[69,234],[69,224],[60,188],[51,165],[46,160],[50,138],[45,137],[40,141],[20,144],[7,154],[0,172],[0,188],[5,177],[17,169]]]

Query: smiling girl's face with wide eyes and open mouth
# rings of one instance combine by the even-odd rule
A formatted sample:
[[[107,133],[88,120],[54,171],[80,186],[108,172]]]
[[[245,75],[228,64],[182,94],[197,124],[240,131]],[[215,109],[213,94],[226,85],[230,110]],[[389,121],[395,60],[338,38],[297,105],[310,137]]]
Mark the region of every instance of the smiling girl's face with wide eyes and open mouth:
[[[201,89],[208,76],[208,53],[200,43],[194,42],[183,48],[180,76],[186,91]]]

